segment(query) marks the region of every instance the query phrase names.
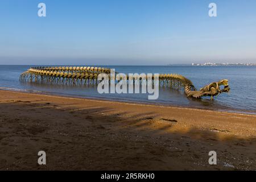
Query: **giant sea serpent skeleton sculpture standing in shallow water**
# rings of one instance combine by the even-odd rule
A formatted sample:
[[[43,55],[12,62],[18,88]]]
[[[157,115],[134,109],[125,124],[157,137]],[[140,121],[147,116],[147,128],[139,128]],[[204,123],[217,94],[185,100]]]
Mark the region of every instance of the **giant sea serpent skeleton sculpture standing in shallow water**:
[[[106,73],[110,78],[109,68],[98,67],[32,67],[20,75],[21,82],[50,82],[55,84],[97,84],[97,77],[100,73]],[[117,72],[115,72],[117,74]],[[128,77],[127,77],[128,78]],[[154,80],[154,76],[152,77]],[[182,75],[160,74],[159,85],[171,89],[184,89],[187,97],[201,98],[205,96],[218,96],[220,93],[229,92],[229,80],[220,80],[196,90],[192,81]],[[223,85],[224,88],[220,89]]]

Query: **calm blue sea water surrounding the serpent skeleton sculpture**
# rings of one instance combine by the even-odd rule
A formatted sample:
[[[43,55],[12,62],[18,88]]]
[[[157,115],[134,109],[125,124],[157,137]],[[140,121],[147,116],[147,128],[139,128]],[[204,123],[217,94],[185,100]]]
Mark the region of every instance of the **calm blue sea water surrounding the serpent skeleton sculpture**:
[[[115,71],[119,73],[177,73],[189,78],[197,89],[213,81],[228,79],[231,92],[229,94],[223,93],[213,101],[209,98],[193,100],[187,98],[183,92],[168,88],[160,88],[158,100],[149,101],[147,100],[148,94],[99,94],[97,92],[97,86],[68,86],[19,82],[20,73],[30,67],[29,65],[0,65],[0,89],[256,113],[256,67],[99,66],[115,68]]]

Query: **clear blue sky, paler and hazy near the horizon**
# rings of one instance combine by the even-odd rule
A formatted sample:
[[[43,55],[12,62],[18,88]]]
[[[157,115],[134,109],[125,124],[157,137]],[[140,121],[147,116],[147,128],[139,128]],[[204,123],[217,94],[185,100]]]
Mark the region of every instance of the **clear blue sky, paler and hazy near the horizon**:
[[[0,24],[0,64],[256,63],[255,0],[1,0]]]

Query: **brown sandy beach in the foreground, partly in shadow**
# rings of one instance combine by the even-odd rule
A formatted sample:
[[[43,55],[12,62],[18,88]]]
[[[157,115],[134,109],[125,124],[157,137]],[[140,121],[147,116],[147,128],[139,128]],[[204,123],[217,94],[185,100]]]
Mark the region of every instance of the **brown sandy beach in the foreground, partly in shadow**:
[[[0,90],[0,146],[1,170],[255,170],[256,115]]]

